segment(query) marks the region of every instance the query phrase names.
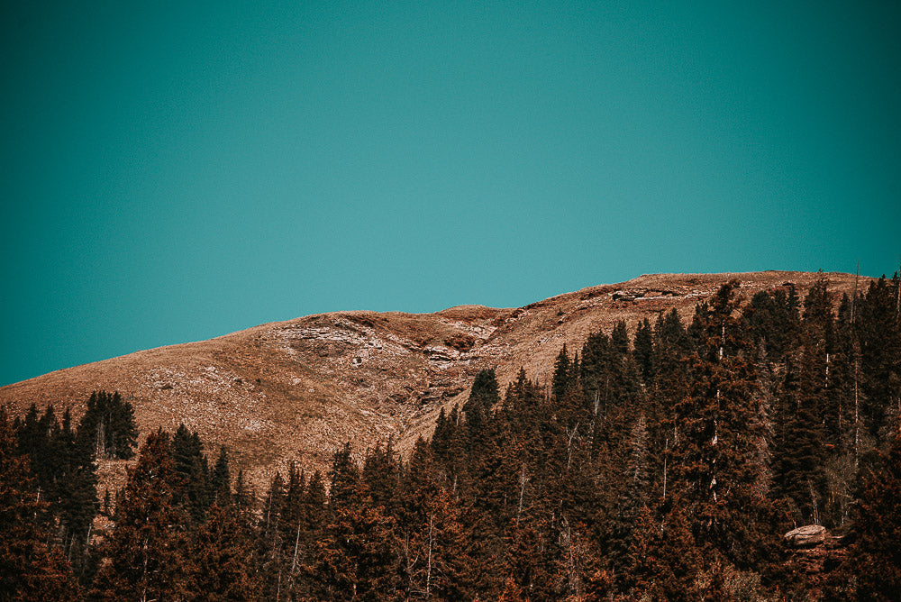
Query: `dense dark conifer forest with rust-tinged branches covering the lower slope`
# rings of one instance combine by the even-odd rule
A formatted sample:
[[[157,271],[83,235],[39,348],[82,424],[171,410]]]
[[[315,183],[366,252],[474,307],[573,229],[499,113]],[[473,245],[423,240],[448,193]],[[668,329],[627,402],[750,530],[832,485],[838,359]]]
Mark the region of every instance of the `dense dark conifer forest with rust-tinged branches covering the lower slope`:
[[[0,599],[899,599],[901,279],[741,292],[564,346],[548,382],[483,369],[412,452],[347,442],[266,491],[115,393],[0,410]]]

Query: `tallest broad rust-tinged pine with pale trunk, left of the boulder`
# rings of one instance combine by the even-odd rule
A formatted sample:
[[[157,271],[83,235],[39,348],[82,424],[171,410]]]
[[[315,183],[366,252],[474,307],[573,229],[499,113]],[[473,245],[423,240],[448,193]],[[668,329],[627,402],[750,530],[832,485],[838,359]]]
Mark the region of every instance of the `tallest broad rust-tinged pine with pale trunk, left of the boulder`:
[[[730,282],[696,313],[702,346],[689,395],[676,410],[673,489],[687,504],[698,541],[739,568],[774,553],[774,515],[765,497],[765,415],[747,325]]]

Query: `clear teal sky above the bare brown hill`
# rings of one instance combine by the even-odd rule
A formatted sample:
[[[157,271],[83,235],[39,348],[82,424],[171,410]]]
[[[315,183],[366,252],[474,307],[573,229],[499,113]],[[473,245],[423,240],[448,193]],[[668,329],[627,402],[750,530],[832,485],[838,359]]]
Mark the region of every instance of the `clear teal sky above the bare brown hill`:
[[[898,265],[897,2],[50,4],[0,9],[0,384],[324,311]]]

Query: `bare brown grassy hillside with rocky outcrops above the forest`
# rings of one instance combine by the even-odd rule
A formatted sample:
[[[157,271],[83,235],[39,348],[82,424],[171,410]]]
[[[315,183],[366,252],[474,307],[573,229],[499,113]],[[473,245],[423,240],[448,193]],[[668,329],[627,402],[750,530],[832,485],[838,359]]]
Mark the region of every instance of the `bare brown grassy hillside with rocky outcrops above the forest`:
[[[833,292],[855,286],[853,275],[825,276]],[[269,470],[290,461],[326,468],[346,441],[360,451],[393,438],[408,449],[431,433],[441,406],[465,398],[479,369],[496,368],[502,386],[521,366],[543,381],[564,342],[578,349],[590,332],[620,319],[633,330],[672,306],[690,319],[695,304],[730,278],[750,299],[785,282],[803,291],[817,275],[660,274],[517,309],[309,315],[51,372],[0,388],[0,404],[19,413],[52,401],[77,414],[92,390],[118,390],[132,401],[141,433],[183,422],[210,449],[227,444],[259,488]],[[860,287],[867,281],[860,278]],[[101,468],[107,479],[122,474],[121,466]]]

